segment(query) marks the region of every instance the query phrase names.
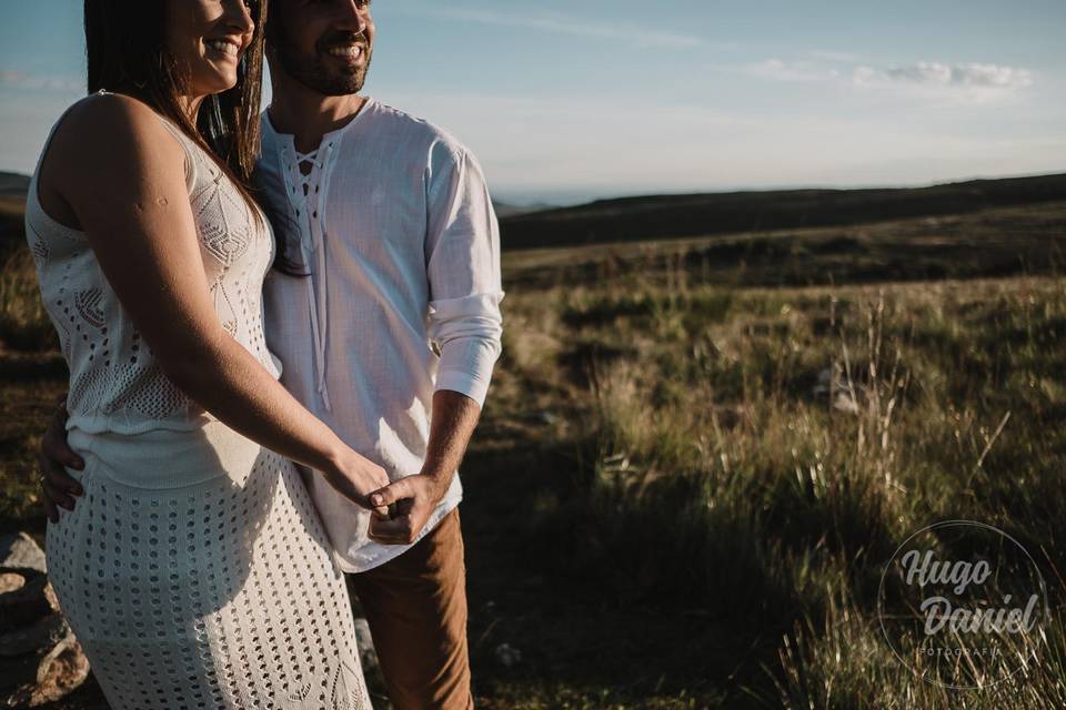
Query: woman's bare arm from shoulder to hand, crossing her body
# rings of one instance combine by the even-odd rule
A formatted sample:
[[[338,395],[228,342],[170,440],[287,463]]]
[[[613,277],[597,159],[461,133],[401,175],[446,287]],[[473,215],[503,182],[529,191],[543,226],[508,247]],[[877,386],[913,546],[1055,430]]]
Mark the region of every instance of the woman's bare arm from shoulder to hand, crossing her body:
[[[185,154],[147,105],[104,95],[76,106],[42,166],[163,373],[221,422],[325,474],[364,507],[389,483],[219,323],[185,185]],[[48,168],[46,171],[44,168]]]

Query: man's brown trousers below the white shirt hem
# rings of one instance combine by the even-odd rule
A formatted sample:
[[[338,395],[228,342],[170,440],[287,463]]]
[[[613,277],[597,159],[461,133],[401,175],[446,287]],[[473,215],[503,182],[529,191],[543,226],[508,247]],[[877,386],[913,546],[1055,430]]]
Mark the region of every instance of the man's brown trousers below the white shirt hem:
[[[396,710],[469,710],[466,566],[459,508],[403,555],[348,575]]]

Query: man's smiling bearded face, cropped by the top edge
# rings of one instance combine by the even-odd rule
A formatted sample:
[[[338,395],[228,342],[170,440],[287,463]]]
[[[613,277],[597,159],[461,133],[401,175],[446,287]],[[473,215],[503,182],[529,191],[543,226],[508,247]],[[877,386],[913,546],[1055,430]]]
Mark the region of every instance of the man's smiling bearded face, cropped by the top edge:
[[[370,0],[274,0],[266,26],[271,71],[328,97],[362,90],[374,50]]]

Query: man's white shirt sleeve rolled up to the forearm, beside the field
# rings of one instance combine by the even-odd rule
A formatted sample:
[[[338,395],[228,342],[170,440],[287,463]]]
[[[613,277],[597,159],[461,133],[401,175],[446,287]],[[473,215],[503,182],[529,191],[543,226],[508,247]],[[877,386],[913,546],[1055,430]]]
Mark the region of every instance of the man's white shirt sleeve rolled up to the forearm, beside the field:
[[[434,389],[483,406],[502,349],[500,227],[481,166],[438,144],[428,175],[429,337],[440,353]]]

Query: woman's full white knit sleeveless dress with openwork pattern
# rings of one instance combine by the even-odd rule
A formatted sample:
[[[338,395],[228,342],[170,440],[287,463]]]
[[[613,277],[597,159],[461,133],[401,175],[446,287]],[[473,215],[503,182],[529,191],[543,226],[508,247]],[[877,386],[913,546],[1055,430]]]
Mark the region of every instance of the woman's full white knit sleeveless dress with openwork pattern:
[[[163,124],[187,153],[219,318],[278,376],[262,333],[270,230]],[[86,458],[70,470],[84,495],[48,526],[49,576],[112,708],[369,708],[343,576],[292,463],[167,379],[84,234],[41,209],[36,174],[26,222]]]

